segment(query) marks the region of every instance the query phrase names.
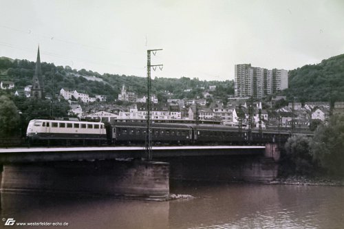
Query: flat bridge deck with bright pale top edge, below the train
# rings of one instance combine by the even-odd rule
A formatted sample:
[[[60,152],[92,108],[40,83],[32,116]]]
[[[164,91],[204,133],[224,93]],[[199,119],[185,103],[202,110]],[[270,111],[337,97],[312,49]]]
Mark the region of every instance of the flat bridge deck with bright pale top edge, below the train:
[[[153,146],[153,157],[252,155],[265,146]],[[0,149],[0,164],[145,157],[142,146]]]

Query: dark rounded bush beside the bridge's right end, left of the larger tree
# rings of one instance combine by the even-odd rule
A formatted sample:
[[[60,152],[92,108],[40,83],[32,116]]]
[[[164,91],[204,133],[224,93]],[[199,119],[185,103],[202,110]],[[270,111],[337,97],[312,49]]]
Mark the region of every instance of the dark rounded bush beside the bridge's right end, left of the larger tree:
[[[285,169],[297,175],[311,175],[314,171],[310,139],[305,136],[293,136],[284,145],[286,155],[283,157]]]

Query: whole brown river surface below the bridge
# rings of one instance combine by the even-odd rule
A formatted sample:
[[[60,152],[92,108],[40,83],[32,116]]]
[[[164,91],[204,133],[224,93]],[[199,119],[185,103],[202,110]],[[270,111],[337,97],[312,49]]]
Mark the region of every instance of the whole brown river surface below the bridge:
[[[344,228],[344,187],[172,182],[171,193],[194,198],[155,202],[2,193],[0,228],[30,228],[16,226],[23,222],[85,229]],[[15,220],[12,227],[4,226],[9,218]]]

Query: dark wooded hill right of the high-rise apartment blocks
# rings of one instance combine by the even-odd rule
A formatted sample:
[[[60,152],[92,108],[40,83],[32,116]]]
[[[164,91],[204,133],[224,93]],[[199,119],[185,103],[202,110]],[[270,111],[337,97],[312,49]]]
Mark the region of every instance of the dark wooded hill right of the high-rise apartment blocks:
[[[344,54],[289,71],[288,86],[283,93],[301,102],[344,101]]]

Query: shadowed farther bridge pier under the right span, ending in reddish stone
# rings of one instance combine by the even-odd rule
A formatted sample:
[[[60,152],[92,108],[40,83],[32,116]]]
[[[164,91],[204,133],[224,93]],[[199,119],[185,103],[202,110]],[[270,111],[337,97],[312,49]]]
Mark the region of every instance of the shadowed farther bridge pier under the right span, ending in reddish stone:
[[[207,155],[203,157],[166,157],[171,179],[215,182],[270,182],[277,177],[279,149],[266,144],[255,155]]]

